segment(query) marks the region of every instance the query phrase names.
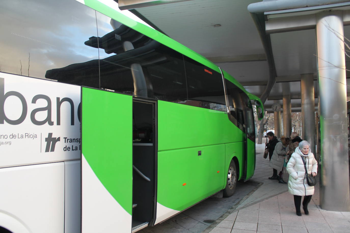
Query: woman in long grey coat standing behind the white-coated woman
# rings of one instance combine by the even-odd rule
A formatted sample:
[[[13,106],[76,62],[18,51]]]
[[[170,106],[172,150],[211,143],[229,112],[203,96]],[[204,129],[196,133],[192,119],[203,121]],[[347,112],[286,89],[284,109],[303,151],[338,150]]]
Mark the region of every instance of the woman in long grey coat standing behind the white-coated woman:
[[[285,162],[285,158],[287,154],[286,147],[287,147],[286,137],[282,136],[281,141],[279,141],[275,146],[275,150],[273,151],[270,164],[269,164],[269,166],[272,167],[273,169],[280,171],[276,180],[278,180],[278,183],[281,183],[281,184],[287,183],[283,180],[283,172],[284,172],[283,163]]]

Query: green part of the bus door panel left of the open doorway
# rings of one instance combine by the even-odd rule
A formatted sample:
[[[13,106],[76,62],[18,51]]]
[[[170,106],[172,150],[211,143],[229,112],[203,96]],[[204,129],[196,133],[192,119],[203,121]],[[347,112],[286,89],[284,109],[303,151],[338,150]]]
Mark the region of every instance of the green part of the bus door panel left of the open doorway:
[[[82,88],[82,153],[104,187],[132,214],[132,96]]]

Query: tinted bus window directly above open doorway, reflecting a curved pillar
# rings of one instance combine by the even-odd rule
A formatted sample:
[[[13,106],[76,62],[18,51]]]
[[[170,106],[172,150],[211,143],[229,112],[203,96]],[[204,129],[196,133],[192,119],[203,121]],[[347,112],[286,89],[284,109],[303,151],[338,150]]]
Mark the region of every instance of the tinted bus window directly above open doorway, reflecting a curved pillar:
[[[135,96],[187,100],[182,54],[97,12],[101,88]]]

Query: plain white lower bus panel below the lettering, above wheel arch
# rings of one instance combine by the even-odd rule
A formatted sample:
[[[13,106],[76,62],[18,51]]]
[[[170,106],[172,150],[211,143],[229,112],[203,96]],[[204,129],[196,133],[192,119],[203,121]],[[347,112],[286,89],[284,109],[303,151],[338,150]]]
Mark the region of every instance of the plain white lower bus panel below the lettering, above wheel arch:
[[[0,187],[1,226],[18,221],[33,233],[64,232],[63,162],[0,168]]]

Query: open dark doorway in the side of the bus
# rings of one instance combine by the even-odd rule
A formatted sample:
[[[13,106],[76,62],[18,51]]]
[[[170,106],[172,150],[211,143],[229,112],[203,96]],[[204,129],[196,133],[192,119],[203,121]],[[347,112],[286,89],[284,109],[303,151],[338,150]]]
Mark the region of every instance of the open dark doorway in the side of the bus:
[[[133,100],[132,232],[153,225],[156,190],[156,102]]]

